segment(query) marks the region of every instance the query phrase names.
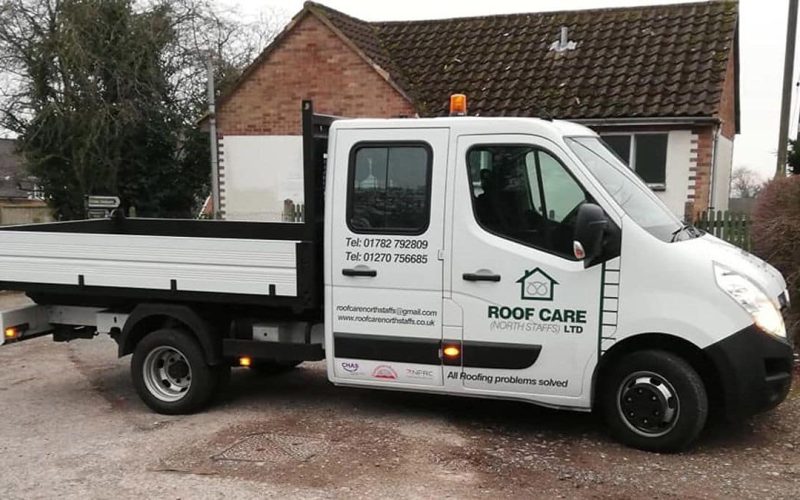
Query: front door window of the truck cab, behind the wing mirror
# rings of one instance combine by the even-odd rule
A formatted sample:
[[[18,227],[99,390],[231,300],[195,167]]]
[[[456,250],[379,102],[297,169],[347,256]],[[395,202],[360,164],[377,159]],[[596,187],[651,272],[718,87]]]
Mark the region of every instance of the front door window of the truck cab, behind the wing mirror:
[[[531,146],[477,146],[469,151],[467,165],[481,226],[574,259],[575,217],[590,198],[552,154]]]

